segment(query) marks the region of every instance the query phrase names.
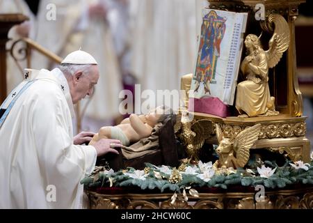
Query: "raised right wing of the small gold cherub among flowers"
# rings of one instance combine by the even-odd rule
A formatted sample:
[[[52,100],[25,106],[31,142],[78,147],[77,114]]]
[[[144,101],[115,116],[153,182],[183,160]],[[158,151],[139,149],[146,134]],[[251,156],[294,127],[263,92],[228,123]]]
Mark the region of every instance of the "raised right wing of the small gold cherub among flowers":
[[[250,128],[246,128],[234,139],[234,151],[236,152],[236,159],[240,167],[244,167],[244,165],[248,162],[250,157],[250,148],[259,138],[261,126],[261,124],[257,124]]]

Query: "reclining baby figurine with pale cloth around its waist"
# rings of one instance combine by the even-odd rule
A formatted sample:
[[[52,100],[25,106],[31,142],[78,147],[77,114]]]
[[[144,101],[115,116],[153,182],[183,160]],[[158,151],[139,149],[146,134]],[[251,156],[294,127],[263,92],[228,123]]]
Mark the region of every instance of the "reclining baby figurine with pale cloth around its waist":
[[[133,142],[149,137],[154,126],[166,117],[165,106],[157,107],[145,115],[131,114],[119,125],[100,128],[89,144],[93,145],[99,139],[118,139],[124,146],[129,146]]]

